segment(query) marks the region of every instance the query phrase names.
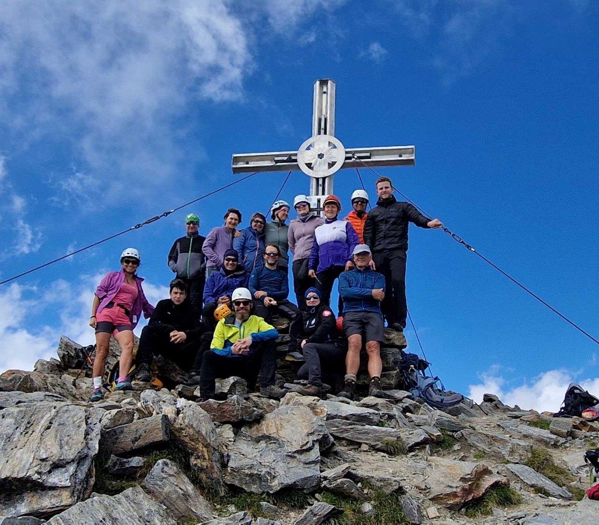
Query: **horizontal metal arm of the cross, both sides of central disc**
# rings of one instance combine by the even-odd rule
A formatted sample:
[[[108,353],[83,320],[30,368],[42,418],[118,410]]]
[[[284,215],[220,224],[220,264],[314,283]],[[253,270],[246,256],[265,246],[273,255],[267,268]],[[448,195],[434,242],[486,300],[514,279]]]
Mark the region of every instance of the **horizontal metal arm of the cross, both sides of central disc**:
[[[415,162],[414,146],[346,148],[345,162],[341,169],[362,168],[364,165],[373,168],[376,166],[414,166]],[[298,153],[297,151],[236,153],[233,155],[231,169],[234,174],[252,171],[296,171],[299,170]]]

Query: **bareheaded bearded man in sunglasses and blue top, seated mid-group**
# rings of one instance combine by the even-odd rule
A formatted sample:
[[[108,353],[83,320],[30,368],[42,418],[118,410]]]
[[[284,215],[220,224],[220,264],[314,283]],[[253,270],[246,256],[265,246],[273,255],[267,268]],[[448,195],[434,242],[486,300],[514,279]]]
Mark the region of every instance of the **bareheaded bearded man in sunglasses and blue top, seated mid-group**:
[[[299,309],[288,301],[287,271],[279,268],[280,251],[276,244],[264,247],[264,265],[250,275],[249,289],[254,298],[254,313],[269,320],[274,312],[293,320]]]

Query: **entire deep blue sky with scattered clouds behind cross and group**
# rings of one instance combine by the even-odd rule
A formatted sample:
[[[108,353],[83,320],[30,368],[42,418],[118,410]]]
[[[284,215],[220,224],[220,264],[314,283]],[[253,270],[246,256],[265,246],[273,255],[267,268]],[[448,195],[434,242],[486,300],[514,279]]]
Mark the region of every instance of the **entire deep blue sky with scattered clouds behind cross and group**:
[[[229,183],[232,153],[295,150],[314,81],[333,78],[346,147],[415,144],[414,168],[380,173],[597,335],[597,15],[585,0],[2,2],[0,278]],[[0,287],[0,368],[31,369],[60,334],[91,341],[93,286],[129,245],[163,297],[184,213],[205,234],[237,205],[247,226],[283,177]],[[344,204],[356,187],[337,174]],[[282,197],[307,190],[294,172]],[[446,386],[554,410],[570,380],[599,394],[597,345],[443,232],[410,229],[407,287]]]

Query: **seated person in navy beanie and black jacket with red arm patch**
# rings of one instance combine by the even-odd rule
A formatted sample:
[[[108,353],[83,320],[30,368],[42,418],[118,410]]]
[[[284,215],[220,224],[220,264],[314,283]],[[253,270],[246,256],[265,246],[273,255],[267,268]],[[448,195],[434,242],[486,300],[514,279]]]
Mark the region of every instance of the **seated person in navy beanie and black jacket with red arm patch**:
[[[323,375],[331,386],[343,381],[343,362],[347,344],[337,333],[337,321],[328,305],[320,304],[320,290],[310,287],[305,292],[306,309],[289,328],[292,349],[301,348],[305,363],[298,379],[307,379],[307,387],[299,387],[304,396],[320,396]]]

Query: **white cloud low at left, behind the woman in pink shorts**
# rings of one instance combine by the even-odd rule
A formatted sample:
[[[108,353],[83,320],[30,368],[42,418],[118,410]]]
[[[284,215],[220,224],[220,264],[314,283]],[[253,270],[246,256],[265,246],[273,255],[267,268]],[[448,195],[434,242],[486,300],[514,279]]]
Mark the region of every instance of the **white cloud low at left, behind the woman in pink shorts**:
[[[0,289],[0,372],[7,369],[31,370],[38,359],[56,356],[60,335],[82,345],[93,344],[89,326],[93,292],[102,274],[85,275],[75,283],[56,280],[44,290],[14,283]],[[144,281],[144,293],[151,304],[168,297],[168,287]],[[49,325],[37,319],[53,312]],[[140,321],[135,333],[147,323]],[[35,329],[31,328],[37,326]]]

